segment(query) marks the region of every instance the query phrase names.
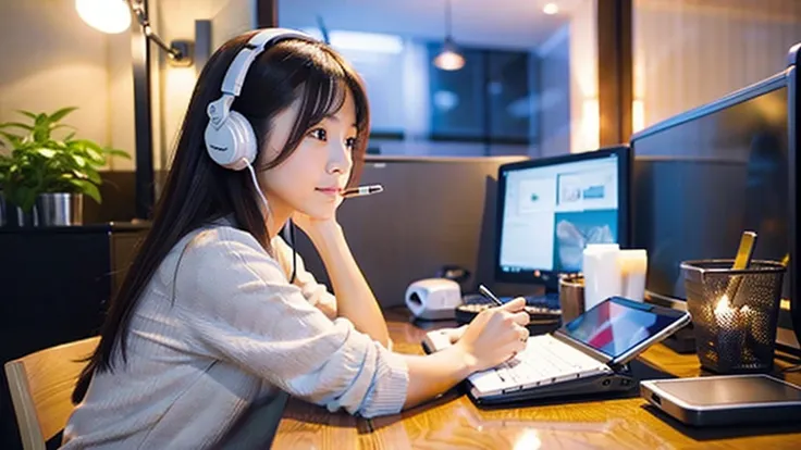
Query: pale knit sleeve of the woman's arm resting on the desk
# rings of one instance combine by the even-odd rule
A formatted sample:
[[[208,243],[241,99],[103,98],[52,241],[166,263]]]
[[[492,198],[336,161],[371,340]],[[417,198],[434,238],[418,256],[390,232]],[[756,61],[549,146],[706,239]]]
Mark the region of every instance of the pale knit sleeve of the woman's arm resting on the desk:
[[[248,234],[220,227],[187,248],[176,304],[199,352],[288,393],[366,417],[397,413],[408,367],[345,318],[329,320]]]

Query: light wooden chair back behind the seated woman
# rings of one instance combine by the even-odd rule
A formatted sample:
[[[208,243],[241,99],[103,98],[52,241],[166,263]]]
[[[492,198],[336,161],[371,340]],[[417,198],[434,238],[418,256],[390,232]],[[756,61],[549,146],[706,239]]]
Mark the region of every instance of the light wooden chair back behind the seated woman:
[[[46,442],[61,432],[73,410],[71,401],[81,371],[81,360],[97,347],[91,337],[51,347],[5,363],[11,400],[14,404],[25,450],[44,450]]]

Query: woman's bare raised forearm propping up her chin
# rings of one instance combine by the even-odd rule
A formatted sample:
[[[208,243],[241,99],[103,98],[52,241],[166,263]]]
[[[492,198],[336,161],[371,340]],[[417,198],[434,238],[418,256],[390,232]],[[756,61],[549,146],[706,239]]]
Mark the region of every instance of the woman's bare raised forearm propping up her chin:
[[[336,292],[337,315],[353,322],[356,329],[384,347],[390,332],[375,297],[361,274],[342,227],[334,221],[298,221],[315,245]],[[311,223],[309,223],[311,222]]]

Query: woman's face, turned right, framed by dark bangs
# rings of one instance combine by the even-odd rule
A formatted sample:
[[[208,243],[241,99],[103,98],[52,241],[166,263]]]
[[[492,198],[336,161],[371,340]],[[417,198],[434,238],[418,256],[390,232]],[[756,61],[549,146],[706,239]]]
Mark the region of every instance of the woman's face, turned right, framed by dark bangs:
[[[316,220],[334,216],[353,167],[357,136],[356,105],[346,89],[342,108],[306,132],[297,149],[284,162],[259,174],[259,184],[273,218],[283,223],[295,212]],[[280,112],[259,154],[259,166],[273,161],[295,125],[299,101]]]

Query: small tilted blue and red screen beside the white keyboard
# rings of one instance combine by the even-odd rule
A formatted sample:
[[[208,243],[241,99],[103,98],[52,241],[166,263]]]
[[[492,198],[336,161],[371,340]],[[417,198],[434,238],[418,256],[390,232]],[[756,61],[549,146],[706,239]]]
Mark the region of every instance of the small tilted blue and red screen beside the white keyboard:
[[[658,314],[653,308],[638,308],[642,303],[631,303],[613,297],[567,323],[562,332],[615,359],[681,317],[678,314]]]

